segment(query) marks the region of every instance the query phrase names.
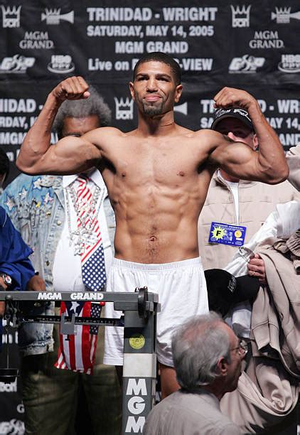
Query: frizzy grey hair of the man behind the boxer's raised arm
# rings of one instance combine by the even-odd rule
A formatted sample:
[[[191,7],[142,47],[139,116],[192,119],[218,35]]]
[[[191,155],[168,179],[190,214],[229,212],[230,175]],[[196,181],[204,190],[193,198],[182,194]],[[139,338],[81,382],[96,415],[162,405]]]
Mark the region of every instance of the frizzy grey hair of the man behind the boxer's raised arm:
[[[112,111],[109,109],[95,87],[89,87],[90,97],[85,100],[65,100],[58,109],[53,130],[57,132],[58,138],[63,137],[63,122],[65,118],[86,118],[97,115],[100,127],[107,127],[112,118]]]

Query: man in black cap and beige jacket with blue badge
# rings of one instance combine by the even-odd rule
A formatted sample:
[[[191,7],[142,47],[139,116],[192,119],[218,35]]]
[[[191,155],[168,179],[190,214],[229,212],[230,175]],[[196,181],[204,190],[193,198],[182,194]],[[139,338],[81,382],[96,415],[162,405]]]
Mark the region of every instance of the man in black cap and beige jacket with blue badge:
[[[232,107],[216,110],[210,128],[257,150],[256,123],[257,119],[251,119],[247,110]],[[236,247],[251,239],[276,205],[290,200],[300,200],[300,194],[288,181],[270,186],[258,181],[240,180],[219,168],[210,182],[198,220],[203,268],[224,269],[235,254]],[[264,283],[262,259],[255,254],[248,260],[250,276],[256,276]]]

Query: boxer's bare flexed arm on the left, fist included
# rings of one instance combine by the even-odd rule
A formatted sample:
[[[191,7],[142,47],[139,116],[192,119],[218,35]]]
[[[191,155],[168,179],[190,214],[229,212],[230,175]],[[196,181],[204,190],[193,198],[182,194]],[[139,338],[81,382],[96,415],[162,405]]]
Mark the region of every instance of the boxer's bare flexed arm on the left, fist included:
[[[89,97],[88,85],[82,77],[60,82],[48,98],[31,129],[25,136],[16,165],[30,175],[38,173],[77,173],[95,166],[101,151],[85,136],[68,136],[50,146],[51,128],[60,105],[65,100]]]

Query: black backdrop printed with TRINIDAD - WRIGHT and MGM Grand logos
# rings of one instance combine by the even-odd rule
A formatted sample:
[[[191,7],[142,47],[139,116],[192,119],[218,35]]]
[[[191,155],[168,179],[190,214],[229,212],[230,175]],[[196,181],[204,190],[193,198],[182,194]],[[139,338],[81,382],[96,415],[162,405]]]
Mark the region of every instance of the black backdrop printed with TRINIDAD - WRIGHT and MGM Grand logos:
[[[300,142],[299,1],[182,3],[0,1],[0,146],[11,161],[45,96],[69,75],[97,87],[112,125],[134,128],[132,67],[156,50],[183,69],[179,124],[209,127],[215,93],[241,87],[259,100],[285,149]],[[16,174],[13,163],[9,181]]]

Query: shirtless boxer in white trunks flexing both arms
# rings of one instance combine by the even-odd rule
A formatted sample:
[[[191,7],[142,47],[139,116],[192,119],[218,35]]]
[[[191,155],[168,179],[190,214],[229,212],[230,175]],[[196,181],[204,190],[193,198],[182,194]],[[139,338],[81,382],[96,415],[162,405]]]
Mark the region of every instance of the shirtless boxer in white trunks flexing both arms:
[[[166,396],[178,389],[171,356],[173,329],[188,316],[208,311],[197,222],[210,178],[219,167],[237,178],[275,184],[289,171],[277,134],[247,92],[225,87],[215,95],[215,106],[247,109],[257,132],[258,152],[217,131],[191,131],[174,123],[181,70],[168,55],[144,55],[129,87],[139,112],[136,129],[123,133],[103,127],[50,146],[60,104],[89,97],[82,77],[60,82],[28,131],[17,165],[31,175],[100,169],[117,220],[116,258],[107,290],[134,291],[146,285],[159,294],[157,355]],[[122,333],[107,330],[105,362],[122,365]]]

